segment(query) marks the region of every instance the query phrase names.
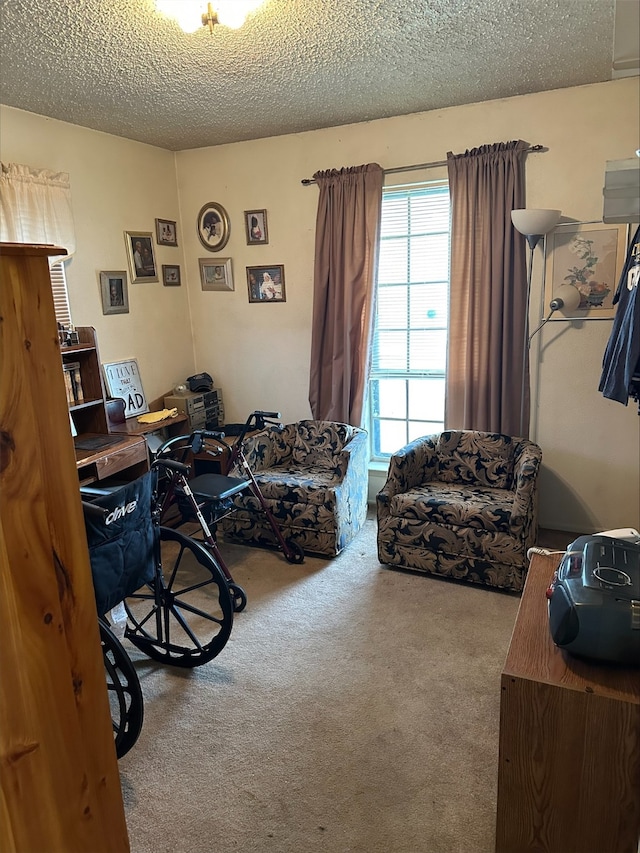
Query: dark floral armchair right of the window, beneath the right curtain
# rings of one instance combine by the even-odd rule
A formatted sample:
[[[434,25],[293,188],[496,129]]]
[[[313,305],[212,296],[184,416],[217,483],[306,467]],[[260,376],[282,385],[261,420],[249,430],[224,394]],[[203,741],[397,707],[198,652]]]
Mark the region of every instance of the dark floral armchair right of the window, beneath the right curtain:
[[[520,591],[541,459],[531,441],[472,430],[408,444],[377,495],[380,562]]]

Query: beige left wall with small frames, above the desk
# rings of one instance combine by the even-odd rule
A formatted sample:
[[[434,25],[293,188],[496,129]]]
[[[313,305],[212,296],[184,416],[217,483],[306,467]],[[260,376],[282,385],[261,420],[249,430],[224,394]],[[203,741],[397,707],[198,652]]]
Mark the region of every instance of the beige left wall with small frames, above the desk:
[[[125,230],[151,231],[155,218],[179,219],[172,152],[66,122],[2,107],[0,156],[6,163],[68,172],[77,251],[67,262],[71,316],[95,326],[103,362],[137,358],[148,399],[193,372],[186,287],[132,284]],[[180,229],[178,242],[182,243]],[[155,246],[158,269],[180,264],[179,248]],[[127,270],[129,313],[102,313],[100,270]]]

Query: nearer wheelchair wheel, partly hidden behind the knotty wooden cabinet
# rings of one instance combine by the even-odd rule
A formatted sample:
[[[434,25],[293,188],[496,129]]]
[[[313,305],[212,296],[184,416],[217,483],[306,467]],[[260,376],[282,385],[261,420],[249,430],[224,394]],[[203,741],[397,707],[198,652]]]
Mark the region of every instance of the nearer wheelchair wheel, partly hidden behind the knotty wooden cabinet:
[[[98,621],[116,755],[122,758],[138,740],[142,729],[142,690],[138,673],[120,640],[104,619]]]

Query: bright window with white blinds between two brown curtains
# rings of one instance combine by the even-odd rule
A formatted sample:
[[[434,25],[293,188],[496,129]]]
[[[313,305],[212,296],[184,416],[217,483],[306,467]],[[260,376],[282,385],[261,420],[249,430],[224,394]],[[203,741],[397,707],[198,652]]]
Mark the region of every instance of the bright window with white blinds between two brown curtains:
[[[448,183],[384,189],[369,378],[373,460],[444,427],[448,297]]]

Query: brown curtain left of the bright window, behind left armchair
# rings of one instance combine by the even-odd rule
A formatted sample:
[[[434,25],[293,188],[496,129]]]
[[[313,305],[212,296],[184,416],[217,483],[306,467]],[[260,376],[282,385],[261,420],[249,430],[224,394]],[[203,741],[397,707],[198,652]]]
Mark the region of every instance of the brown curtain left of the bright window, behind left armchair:
[[[316,218],[309,403],[317,420],[360,426],[367,381],[384,172],[377,163],[313,176]]]

